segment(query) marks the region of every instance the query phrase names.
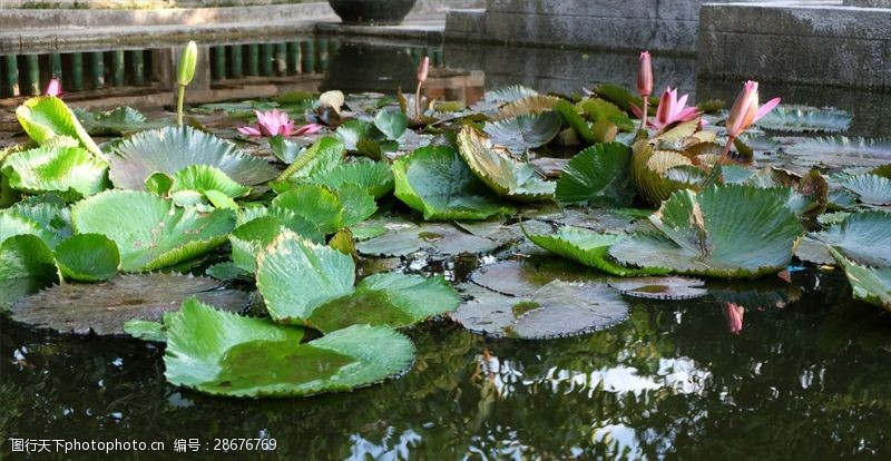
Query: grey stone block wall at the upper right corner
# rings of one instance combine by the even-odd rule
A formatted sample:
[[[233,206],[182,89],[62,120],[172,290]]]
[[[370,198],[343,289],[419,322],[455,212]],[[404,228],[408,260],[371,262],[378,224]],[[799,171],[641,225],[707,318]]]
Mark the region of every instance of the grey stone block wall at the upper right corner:
[[[703,76],[891,88],[891,9],[706,4],[701,21]]]

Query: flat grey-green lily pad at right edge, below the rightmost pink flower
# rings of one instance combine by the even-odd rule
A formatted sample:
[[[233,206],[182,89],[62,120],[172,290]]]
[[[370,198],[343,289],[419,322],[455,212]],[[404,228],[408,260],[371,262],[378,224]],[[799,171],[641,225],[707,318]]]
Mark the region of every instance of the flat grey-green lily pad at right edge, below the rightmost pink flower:
[[[805,167],[879,167],[891,163],[891,138],[807,138],[784,151]]]

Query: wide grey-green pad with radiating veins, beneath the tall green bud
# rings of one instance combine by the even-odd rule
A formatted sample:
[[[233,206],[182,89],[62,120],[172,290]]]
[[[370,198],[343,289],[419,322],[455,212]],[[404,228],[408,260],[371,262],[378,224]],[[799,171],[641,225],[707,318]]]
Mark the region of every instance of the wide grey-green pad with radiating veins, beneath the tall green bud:
[[[266,160],[192,127],[143,131],[123,141],[115,151],[109,177],[124,189],[145,190],[145,182],[154,173],[174,175],[190,165],[209,165],[246,186],[265,183],[278,174]]]

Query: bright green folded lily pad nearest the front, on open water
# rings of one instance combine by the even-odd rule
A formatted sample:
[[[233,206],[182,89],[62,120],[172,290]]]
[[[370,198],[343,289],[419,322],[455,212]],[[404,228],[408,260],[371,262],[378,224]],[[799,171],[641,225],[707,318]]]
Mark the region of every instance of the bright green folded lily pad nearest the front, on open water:
[[[303,330],[189,301],[167,325],[165,376],[227,396],[303,396],[349,391],[411,366],[414,345],[386,327],[351,326],[301,343]]]

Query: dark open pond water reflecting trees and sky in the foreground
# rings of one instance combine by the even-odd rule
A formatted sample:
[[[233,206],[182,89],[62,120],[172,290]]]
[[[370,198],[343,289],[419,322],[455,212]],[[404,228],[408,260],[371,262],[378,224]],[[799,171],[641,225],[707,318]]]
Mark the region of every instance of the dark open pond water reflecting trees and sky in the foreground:
[[[401,55],[404,49],[382,52],[400,55],[394,59],[402,67],[413,65]],[[470,51],[447,48],[446,65],[482,59],[468,67],[486,71],[484,87],[517,75],[497,66],[506,58],[496,51],[464,58],[459,52]],[[578,73],[587,67],[568,55],[554,55],[581,67],[536,67],[523,82],[571,80],[578,88],[597,80]],[[374,71],[383,65],[368,62],[349,75],[351,85],[364,85],[355,82],[362,76],[365,88],[404,77],[405,69],[385,76]],[[610,76],[633,75],[634,57],[579,62],[598,69],[611,63]],[[342,63],[335,56],[330,66]],[[681,85],[695,90],[703,84],[692,66],[684,58],[664,62],[665,69],[681,69],[674,70]],[[341,77],[329,75],[325,85]],[[855,127],[871,130],[870,118],[860,117],[855,112]],[[176,389],[164,380],[163,349],[156,345],[36,332],[0,316],[0,458],[26,458],[11,451],[12,439],[164,442],[163,452],[108,454],[153,460],[173,458],[177,439],[196,439],[199,451],[189,455],[206,459],[888,459],[889,315],[851,301],[843,274],[810,269],[794,273],[792,282],[797,288],[784,307],[745,306],[738,334],[728,328],[726,304],[714,297],[629,298],[629,320],[549,341],[496,341],[448,320],[429,322],[408,332],[418,360],[403,377],[290,400],[218,399]],[[270,438],[277,445],[224,457],[214,451],[215,439],[223,438]],[[106,458],[59,453],[55,443],[50,451],[31,459]]]

